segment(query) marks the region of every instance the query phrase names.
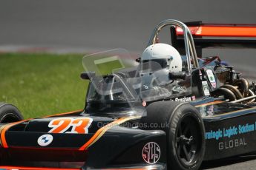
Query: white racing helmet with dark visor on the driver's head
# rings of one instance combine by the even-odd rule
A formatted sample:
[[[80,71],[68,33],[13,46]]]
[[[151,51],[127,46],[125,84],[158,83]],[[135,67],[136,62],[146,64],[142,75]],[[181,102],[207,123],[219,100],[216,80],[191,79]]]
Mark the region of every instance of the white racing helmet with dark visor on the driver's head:
[[[168,67],[170,72],[182,71],[180,53],[169,44],[157,43],[148,46],[142,53],[141,61],[156,61],[161,64],[161,67]]]

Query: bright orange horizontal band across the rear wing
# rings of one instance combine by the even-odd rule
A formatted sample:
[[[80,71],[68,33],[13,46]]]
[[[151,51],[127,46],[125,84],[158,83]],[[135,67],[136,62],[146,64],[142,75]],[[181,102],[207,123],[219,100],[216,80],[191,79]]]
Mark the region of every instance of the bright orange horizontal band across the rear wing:
[[[188,27],[192,35],[217,37],[256,37],[256,27],[242,26],[200,26]],[[180,27],[176,28],[177,35],[183,35]]]

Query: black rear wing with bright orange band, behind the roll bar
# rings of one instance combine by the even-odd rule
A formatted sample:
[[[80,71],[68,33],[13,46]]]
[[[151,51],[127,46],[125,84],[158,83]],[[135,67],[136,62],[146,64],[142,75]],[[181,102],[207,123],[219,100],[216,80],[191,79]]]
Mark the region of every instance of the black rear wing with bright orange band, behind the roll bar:
[[[197,53],[203,48],[256,48],[256,24],[203,24],[185,23],[193,35]],[[183,30],[171,27],[171,44],[183,50]]]

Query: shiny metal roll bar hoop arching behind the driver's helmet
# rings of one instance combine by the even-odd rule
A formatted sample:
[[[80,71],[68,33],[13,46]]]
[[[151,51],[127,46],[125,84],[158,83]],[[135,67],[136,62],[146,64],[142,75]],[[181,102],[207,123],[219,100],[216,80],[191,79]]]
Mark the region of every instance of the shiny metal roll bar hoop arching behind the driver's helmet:
[[[177,21],[174,19],[167,19],[165,21],[160,22],[157,27],[154,28],[153,33],[151,34],[151,38],[148,41],[148,46],[155,44],[157,41],[157,35],[160,33],[163,27],[171,26],[171,27],[180,27],[184,33],[184,43],[185,43],[185,50],[186,50],[186,57],[187,57],[187,64],[188,64],[188,72],[191,72],[191,58],[193,60],[193,64],[195,68],[199,68],[198,60],[197,60],[197,52],[194,47],[194,40],[191,35],[190,30],[183,24],[181,21]]]

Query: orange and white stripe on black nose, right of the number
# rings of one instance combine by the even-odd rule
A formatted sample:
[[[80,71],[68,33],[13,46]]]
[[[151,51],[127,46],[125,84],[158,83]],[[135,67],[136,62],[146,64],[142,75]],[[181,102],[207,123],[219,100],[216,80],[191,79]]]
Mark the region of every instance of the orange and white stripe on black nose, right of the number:
[[[128,118],[119,118],[117,120],[114,120],[114,122],[108,123],[106,126],[103,126],[99,130],[97,130],[97,132],[93,135],[93,137],[91,137],[91,139],[88,140],[87,143],[85,143],[83,146],[81,146],[79,148],[79,150],[82,151],[82,150],[88,149],[91,145],[93,145],[93,143],[95,143],[97,140],[99,140],[99,138],[102,137],[102,135],[104,135],[105,132],[108,131],[108,129],[111,129],[111,127],[119,125],[121,123],[125,123],[128,120],[133,120],[136,118],[140,118],[140,117],[139,116],[131,116]]]

